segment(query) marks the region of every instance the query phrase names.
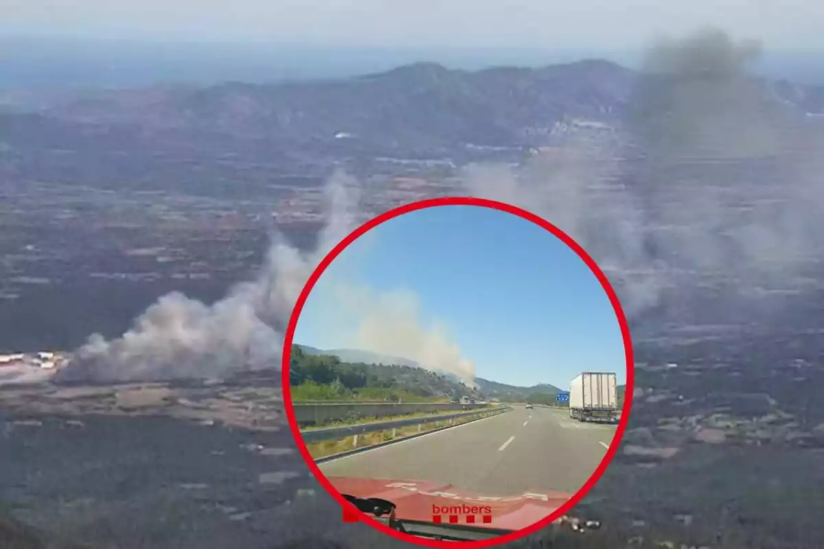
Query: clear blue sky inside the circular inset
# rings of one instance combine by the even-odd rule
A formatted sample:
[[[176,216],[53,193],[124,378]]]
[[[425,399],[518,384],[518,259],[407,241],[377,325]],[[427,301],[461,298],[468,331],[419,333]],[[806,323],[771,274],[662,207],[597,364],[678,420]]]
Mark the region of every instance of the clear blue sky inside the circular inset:
[[[386,221],[326,270],[294,342],[369,348],[357,342],[363,319],[394,321],[393,308],[424,331],[440,324],[485,379],[564,388],[581,371],[606,370],[625,380],[620,326],[595,275],[554,235],[508,213],[448,206]]]

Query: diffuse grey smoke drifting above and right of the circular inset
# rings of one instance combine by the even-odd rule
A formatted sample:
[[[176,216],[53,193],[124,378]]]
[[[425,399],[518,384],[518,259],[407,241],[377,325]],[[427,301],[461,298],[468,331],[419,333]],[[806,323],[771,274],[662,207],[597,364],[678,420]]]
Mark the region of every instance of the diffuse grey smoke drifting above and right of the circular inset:
[[[750,76],[759,53],[716,29],[656,40],[611,133],[474,166],[467,188],[578,240],[630,317],[689,286],[794,287],[824,252],[824,132]]]

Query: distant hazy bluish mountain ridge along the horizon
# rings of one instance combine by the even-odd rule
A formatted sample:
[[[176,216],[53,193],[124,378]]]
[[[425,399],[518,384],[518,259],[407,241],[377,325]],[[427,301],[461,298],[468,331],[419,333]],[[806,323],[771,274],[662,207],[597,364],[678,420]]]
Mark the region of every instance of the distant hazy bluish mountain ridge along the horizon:
[[[176,114],[177,122],[193,120],[187,115],[202,114],[202,109],[213,111],[218,117],[225,114],[240,115],[245,107],[255,103],[257,114],[274,116],[274,121],[284,123],[277,115],[308,105],[323,105],[323,114],[334,105],[330,101],[348,104],[350,107],[369,106],[383,109],[388,106],[438,106],[437,100],[480,102],[485,107],[508,105],[517,114],[517,106],[534,110],[536,107],[555,107],[550,111],[574,115],[610,114],[629,99],[633,86],[641,72],[607,59],[583,58],[569,63],[552,63],[541,67],[496,65],[475,70],[449,68],[441,63],[421,61],[406,63],[381,71],[353,77],[331,77],[324,80],[305,79],[271,83],[223,81],[207,86],[143,86],[126,90],[101,91],[96,95],[77,100],[63,100],[41,114],[66,119],[88,119],[117,111],[124,120],[138,122],[143,109],[165,109]],[[780,79],[756,78],[767,86],[767,92],[780,100],[789,101],[809,112],[824,109],[824,86],[794,84]],[[384,95],[383,97],[381,95]],[[405,97],[403,97],[405,95]],[[372,100],[365,101],[365,98]],[[319,104],[318,100],[325,100]],[[597,101],[602,105],[597,105]],[[421,105],[415,104],[419,101]],[[283,105],[279,105],[283,103]],[[246,104],[246,105],[244,105]],[[407,104],[407,105],[405,105]],[[565,109],[558,109],[563,105]],[[343,105],[338,105],[343,106]],[[439,105],[458,108],[460,105]],[[598,109],[597,107],[602,107]],[[577,107],[578,113],[574,113]],[[129,114],[131,114],[129,116]],[[321,114],[321,113],[318,113]],[[358,114],[357,111],[344,114]],[[386,113],[383,113],[386,114]],[[312,113],[303,112],[304,117]],[[350,117],[351,118],[351,117]],[[153,122],[153,121],[152,121]],[[294,121],[284,123],[293,126]],[[341,128],[344,130],[344,128]]]

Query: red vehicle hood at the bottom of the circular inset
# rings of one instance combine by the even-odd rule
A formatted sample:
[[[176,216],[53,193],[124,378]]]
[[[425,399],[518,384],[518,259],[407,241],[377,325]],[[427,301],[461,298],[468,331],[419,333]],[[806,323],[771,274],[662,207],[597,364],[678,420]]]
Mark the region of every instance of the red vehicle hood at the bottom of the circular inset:
[[[471,523],[475,527],[509,531],[527,528],[545,519],[572,497],[572,494],[565,492],[545,490],[525,491],[521,495],[489,496],[439,482],[403,479],[327,479],[341,494],[391,501],[397,506],[395,516],[400,520]]]

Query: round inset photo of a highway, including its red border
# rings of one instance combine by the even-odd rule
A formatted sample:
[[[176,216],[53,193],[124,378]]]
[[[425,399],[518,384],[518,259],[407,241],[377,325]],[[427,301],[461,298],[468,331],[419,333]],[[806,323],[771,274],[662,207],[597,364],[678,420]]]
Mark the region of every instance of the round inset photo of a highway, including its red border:
[[[615,454],[632,347],[592,258],[520,208],[386,212],[321,262],[283,349],[297,446],[344,519],[490,547],[559,519]]]

